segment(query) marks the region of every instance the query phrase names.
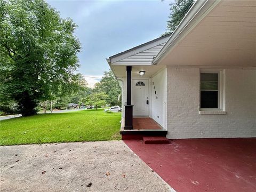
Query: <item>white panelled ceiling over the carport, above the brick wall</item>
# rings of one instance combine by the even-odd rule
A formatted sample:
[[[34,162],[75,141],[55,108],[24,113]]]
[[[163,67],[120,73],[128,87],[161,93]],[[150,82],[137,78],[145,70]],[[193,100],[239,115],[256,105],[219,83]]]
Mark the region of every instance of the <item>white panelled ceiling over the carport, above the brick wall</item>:
[[[220,1],[181,39],[157,65],[255,67],[256,1]]]

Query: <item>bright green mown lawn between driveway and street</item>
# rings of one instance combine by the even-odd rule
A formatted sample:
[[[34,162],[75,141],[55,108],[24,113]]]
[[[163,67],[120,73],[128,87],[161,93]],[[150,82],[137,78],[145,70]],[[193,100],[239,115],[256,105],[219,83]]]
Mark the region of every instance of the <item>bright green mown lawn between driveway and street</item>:
[[[102,109],[38,114],[0,122],[0,145],[119,140],[121,113]]]

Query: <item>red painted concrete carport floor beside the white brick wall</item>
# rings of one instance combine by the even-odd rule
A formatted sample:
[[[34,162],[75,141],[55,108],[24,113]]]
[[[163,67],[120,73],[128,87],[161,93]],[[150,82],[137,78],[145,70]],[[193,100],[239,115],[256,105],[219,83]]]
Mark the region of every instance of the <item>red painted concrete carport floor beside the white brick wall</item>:
[[[256,191],[256,138],[124,142],[176,191]]]

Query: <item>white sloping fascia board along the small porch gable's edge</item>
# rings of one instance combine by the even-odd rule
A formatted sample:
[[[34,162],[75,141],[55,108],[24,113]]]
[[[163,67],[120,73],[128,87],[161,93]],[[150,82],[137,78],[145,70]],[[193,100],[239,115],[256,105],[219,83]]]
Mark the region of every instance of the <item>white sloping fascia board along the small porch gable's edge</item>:
[[[169,37],[166,37],[166,38],[169,38]],[[113,64],[113,63],[118,62],[118,61],[120,61],[122,59],[130,57],[130,56],[132,56],[134,54],[140,53],[142,51],[146,51],[146,50],[150,49],[151,47],[154,47],[154,46],[157,46],[159,44],[165,43],[166,42],[166,38],[161,38],[158,41],[155,41],[155,42],[152,42],[150,44],[138,47],[138,49],[134,49],[134,50],[128,51],[128,52],[126,52],[124,54],[121,54],[121,55],[118,55],[116,57],[110,58],[110,63]]]

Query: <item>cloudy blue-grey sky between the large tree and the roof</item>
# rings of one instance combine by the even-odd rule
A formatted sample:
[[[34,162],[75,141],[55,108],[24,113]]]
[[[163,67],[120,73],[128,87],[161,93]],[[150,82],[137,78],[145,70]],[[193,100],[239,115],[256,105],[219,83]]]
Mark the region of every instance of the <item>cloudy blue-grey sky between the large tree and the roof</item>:
[[[46,0],[78,25],[75,35],[82,44],[78,53],[90,87],[109,70],[106,58],[159,37],[166,30],[172,1],[75,1]]]

